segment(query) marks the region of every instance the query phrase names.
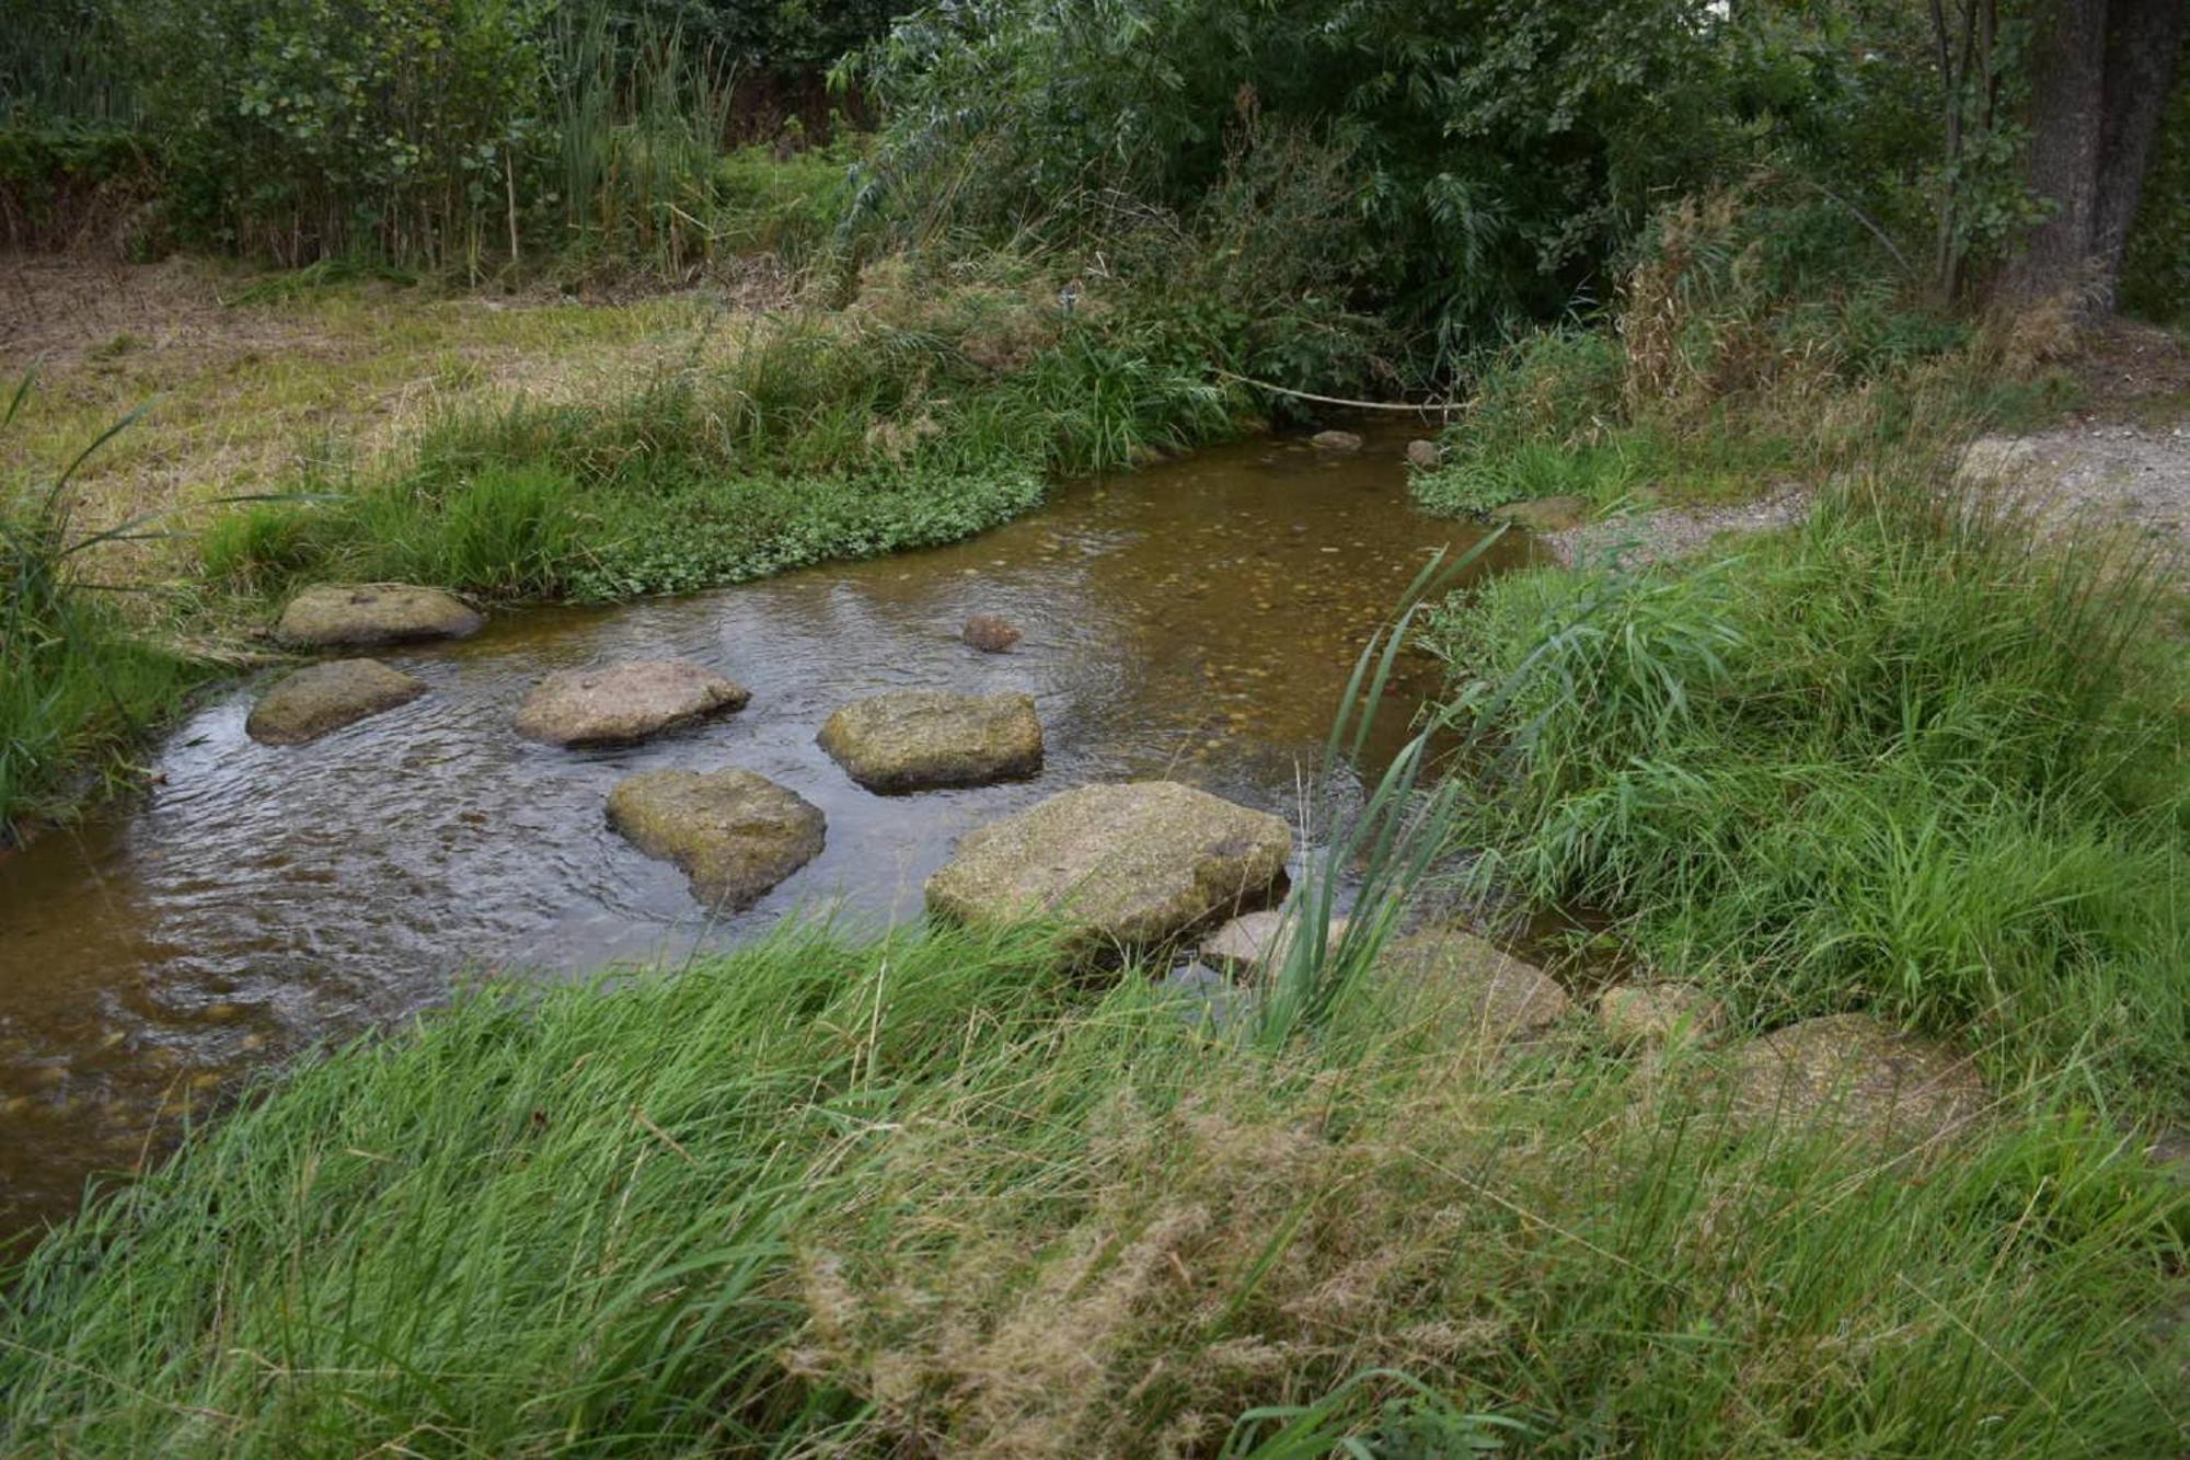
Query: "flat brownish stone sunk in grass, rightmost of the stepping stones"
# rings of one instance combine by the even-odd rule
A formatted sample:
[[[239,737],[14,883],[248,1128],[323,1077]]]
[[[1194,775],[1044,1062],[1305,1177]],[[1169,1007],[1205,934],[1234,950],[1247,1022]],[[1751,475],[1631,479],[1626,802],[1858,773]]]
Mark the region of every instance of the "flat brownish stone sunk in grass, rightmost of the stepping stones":
[[[1853,1136],[1923,1142],[1991,1103],[1978,1068],[1870,1015],[1802,1019],[1734,1052],[1734,1111]]]

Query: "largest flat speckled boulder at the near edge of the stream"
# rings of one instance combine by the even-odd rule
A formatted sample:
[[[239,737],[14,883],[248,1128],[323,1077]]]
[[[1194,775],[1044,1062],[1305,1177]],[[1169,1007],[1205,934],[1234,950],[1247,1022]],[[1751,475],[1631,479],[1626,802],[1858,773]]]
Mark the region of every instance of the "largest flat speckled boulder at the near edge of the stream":
[[[970,925],[1062,923],[1080,951],[1167,943],[1286,890],[1292,829],[1176,780],[1084,785],[981,826],[929,877]]]

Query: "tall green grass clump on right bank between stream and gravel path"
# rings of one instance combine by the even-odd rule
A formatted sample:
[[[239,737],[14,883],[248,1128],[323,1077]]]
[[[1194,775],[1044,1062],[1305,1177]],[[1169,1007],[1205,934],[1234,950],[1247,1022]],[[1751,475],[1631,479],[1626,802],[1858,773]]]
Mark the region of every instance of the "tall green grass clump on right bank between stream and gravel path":
[[[1881,463],[1717,559],[1452,609],[1452,717],[1509,745],[1478,877],[1607,912],[1767,1022],[1978,1030],[2004,1070],[2181,1118],[2177,588],[1943,478]]]

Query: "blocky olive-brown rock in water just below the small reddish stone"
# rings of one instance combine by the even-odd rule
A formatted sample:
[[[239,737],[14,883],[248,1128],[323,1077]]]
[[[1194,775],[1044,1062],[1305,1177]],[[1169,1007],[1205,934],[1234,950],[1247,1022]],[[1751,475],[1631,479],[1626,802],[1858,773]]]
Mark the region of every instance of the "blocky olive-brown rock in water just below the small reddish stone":
[[[869,791],[933,791],[1025,780],[1042,769],[1042,721],[1029,695],[894,691],[828,717],[817,737]]]

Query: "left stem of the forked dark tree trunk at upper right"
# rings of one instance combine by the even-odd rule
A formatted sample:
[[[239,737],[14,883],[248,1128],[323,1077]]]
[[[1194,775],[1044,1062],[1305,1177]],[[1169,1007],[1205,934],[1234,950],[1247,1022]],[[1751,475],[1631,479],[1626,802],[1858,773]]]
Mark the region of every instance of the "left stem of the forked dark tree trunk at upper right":
[[[2162,0],[2181,4],[2183,0]],[[1999,294],[2032,303],[2091,270],[2107,96],[2107,0],[2052,0],[2030,48],[2030,189],[2054,204],[2008,263]]]

